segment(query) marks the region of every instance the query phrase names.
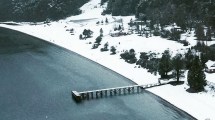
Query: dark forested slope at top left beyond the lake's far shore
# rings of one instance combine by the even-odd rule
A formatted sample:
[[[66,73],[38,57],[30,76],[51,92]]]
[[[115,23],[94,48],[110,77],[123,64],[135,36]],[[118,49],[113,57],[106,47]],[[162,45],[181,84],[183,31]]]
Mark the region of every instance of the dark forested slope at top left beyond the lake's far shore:
[[[81,13],[89,0],[1,0],[0,21],[40,22]]]

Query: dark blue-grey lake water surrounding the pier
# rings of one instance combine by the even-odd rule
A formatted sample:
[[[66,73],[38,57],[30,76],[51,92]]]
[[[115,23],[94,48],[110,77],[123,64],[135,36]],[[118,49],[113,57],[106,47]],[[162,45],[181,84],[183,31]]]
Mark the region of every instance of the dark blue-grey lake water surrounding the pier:
[[[147,91],[79,104],[71,97],[71,90],[133,84],[71,51],[0,28],[0,120],[194,119]]]

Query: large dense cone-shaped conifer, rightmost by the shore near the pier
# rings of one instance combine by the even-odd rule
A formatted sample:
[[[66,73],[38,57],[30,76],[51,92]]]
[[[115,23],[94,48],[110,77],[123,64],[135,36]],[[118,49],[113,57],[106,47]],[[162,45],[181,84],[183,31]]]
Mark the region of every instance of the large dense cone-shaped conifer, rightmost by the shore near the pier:
[[[187,81],[192,90],[197,92],[204,90],[206,76],[198,56],[192,61],[192,66],[188,71]]]

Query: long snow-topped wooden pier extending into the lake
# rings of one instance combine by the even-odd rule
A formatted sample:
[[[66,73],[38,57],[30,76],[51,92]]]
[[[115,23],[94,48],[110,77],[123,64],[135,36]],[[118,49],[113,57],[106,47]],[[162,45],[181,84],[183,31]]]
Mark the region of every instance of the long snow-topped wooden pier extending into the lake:
[[[92,91],[83,91],[83,92],[72,91],[72,97],[76,102],[81,102],[82,100],[102,98],[107,96],[140,93],[143,91],[143,89],[166,85],[166,84],[168,83],[133,85],[133,86],[115,87],[115,88],[99,89],[99,90],[92,90]]]

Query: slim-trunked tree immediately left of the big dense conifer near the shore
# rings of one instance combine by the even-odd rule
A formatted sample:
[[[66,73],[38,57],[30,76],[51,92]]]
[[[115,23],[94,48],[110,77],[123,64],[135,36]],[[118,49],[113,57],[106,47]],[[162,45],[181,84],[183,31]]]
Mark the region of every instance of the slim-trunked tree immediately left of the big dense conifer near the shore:
[[[179,53],[176,54],[176,56],[173,57],[173,59],[172,59],[172,63],[173,63],[173,68],[176,72],[177,82],[179,82],[180,72],[184,68],[184,60],[182,58],[182,55]]]

